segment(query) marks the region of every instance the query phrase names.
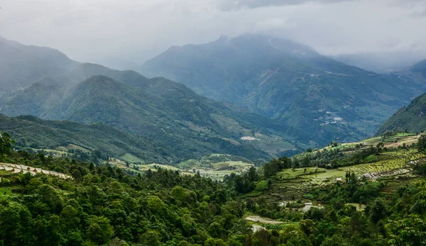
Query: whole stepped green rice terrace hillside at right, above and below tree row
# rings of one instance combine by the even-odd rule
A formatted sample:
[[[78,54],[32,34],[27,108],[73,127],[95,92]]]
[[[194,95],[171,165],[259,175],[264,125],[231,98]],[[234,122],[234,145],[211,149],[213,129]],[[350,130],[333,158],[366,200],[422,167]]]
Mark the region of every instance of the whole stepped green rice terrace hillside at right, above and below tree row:
[[[271,177],[271,184],[263,192],[252,191],[247,196],[266,199],[268,202],[288,203],[289,201],[312,201],[311,193],[315,189],[327,189],[346,182],[346,174],[355,174],[360,182],[385,181],[381,190],[383,194],[392,194],[398,186],[413,183],[420,179],[413,174],[415,164],[426,162],[426,155],[413,146],[419,135],[398,133],[386,138],[370,138],[362,142],[346,144],[332,143],[320,150],[312,150],[296,155],[293,162],[310,162],[311,167],[282,169]],[[379,143],[383,142],[383,145]],[[368,151],[378,150],[375,154],[368,155]],[[332,154],[330,154],[330,152]],[[327,154],[328,153],[328,154]],[[360,153],[367,153],[359,164],[347,164],[354,160]],[[326,155],[327,154],[327,155]],[[339,155],[339,162],[331,160],[324,162],[329,155]],[[319,160],[317,157],[323,157]],[[306,163],[304,164],[304,166]],[[336,165],[333,167],[333,165]],[[336,168],[337,167],[337,168]]]

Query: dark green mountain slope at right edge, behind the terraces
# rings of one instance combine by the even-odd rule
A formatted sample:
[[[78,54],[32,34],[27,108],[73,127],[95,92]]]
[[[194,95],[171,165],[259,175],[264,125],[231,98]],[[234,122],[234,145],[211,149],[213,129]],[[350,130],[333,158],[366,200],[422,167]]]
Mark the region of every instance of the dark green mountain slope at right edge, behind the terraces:
[[[388,130],[420,133],[426,130],[426,94],[417,96],[411,104],[403,106],[391,116],[380,128],[376,135]]]

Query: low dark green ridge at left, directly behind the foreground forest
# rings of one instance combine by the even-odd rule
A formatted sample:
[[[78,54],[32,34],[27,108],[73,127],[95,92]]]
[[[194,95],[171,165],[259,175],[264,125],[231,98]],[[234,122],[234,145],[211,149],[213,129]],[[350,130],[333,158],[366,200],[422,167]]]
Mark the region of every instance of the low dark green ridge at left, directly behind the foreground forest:
[[[11,134],[16,144],[22,147],[53,150],[78,147],[88,151],[100,150],[114,157],[133,155],[157,163],[168,163],[177,157],[167,145],[103,123],[84,125],[72,121],[44,121],[34,116],[0,115],[0,125],[1,130]]]

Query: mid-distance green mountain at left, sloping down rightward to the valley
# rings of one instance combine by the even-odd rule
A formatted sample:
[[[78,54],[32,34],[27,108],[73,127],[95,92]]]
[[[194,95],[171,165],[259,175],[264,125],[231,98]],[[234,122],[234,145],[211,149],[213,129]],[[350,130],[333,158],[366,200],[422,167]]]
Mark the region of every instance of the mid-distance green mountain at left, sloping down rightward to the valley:
[[[234,111],[194,93],[183,84],[132,71],[83,64],[69,77],[96,75],[69,88],[44,79],[0,97],[0,113],[49,120],[106,123],[169,146],[175,160],[213,153],[268,159],[312,146],[312,136],[264,116]],[[242,137],[250,137],[255,141]],[[158,150],[161,152],[161,150]]]

